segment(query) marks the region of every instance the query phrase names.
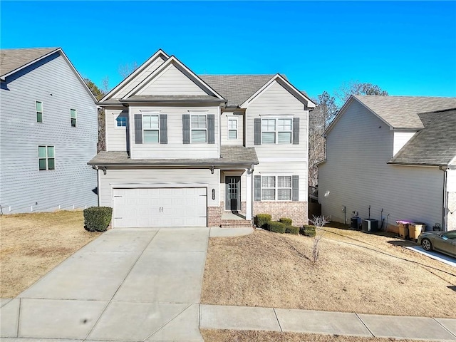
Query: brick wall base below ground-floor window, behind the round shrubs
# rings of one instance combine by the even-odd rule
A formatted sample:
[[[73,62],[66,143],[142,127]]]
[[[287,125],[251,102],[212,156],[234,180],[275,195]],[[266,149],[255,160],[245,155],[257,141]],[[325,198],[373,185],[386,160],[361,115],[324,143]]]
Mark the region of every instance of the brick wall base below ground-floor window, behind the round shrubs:
[[[270,214],[273,221],[289,217],[294,226],[309,224],[307,202],[254,202],[254,216]]]

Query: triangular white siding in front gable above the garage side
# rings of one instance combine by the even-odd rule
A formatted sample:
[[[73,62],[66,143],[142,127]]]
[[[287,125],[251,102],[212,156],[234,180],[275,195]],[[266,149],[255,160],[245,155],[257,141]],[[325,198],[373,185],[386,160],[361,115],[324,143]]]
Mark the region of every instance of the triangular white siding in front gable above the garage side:
[[[171,64],[136,95],[207,95],[207,93]]]

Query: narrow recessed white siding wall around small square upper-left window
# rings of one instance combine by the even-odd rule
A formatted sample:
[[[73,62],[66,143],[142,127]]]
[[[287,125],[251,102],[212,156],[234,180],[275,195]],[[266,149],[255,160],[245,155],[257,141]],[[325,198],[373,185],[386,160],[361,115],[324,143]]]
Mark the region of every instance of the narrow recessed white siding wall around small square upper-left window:
[[[127,126],[117,127],[117,118],[127,118]],[[106,151],[126,151],[127,148],[127,133],[128,133],[128,110],[121,109],[106,109]]]

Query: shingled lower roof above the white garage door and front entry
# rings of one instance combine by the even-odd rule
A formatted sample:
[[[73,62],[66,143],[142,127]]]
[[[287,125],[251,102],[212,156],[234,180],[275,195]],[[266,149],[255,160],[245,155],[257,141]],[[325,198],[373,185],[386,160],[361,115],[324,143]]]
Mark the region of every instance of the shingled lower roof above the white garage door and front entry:
[[[99,152],[88,162],[88,165],[120,166],[212,166],[229,167],[231,165],[258,164],[257,152],[254,147],[222,146],[219,158],[207,159],[130,159],[127,152]]]

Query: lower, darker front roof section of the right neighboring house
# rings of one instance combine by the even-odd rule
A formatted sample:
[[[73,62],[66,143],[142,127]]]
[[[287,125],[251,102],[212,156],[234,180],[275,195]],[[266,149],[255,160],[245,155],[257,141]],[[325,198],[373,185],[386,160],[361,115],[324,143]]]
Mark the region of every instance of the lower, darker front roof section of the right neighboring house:
[[[425,125],[388,164],[447,166],[456,157],[456,108],[418,115]]]

